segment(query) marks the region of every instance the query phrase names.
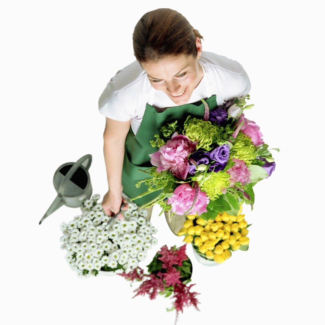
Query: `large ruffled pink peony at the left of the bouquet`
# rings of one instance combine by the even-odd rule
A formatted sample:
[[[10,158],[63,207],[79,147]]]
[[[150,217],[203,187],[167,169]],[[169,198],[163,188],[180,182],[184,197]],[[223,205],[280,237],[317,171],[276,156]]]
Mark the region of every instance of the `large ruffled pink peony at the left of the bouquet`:
[[[158,167],[157,171],[170,170],[174,176],[186,179],[189,170],[187,157],[196,149],[196,142],[192,142],[184,135],[175,132],[172,140],[168,140],[159,150],[149,155],[150,163]]]

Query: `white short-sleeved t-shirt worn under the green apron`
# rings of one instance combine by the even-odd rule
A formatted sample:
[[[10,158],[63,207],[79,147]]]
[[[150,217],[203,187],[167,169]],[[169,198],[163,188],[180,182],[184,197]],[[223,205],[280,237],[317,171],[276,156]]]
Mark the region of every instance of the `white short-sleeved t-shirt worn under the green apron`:
[[[216,95],[217,105],[222,106],[229,100],[249,93],[250,80],[237,61],[205,51],[202,51],[198,61],[204,76],[193,90],[188,103]],[[99,98],[98,107],[101,114],[113,120],[131,119],[131,128],[136,134],[147,103],[157,110],[177,106],[162,90],[151,86],[140,63],[134,61],[110,79]]]

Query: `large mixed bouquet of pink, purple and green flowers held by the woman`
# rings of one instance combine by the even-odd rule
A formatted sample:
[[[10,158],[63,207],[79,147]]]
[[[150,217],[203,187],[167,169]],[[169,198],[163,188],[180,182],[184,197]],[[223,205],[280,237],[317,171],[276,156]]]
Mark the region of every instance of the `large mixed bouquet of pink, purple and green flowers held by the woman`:
[[[163,126],[150,141],[158,148],[149,155],[154,167],[136,184],[144,182],[148,191],[131,200],[160,191],[141,208],[159,203],[165,211],[197,213],[205,220],[223,211],[237,215],[243,202],[253,209],[253,186],[271,175],[275,162],[259,127],[243,114],[254,106],[246,105],[249,97],[211,112],[205,105],[203,119],[188,116],[183,126],[177,121]]]

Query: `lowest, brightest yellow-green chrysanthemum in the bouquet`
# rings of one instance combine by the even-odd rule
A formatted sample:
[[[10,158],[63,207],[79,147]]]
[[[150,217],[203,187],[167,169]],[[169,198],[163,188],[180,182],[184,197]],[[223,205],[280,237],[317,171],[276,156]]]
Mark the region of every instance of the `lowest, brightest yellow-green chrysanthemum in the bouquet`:
[[[204,191],[211,200],[217,199],[222,194],[222,189],[229,186],[230,175],[224,171],[212,172],[210,177],[200,184],[201,191]]]

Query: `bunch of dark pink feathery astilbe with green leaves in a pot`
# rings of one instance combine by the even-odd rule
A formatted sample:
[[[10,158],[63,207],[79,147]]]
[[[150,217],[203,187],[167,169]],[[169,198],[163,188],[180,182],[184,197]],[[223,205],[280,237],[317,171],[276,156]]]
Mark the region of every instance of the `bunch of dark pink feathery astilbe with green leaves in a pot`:
[[[185,251],[186,245],[179,248],[173,246],[170,249],[164,245],[147,265],[149,274],[144,274],[144,270],[140,267],[132,272],[119,274],[127,280],[141,282],[141,285],[134,291],[136,292],[134,297],[148,294],[150,300],[153,300],[158,294],[165,297],[174,294],[173,307],[167,308],[167,311],[176,310],[175,324],[179,312],[183,313],[184,306],[193,305],[199,310],[197,307],[199,301],[196,298],[198,293],[190,292],[194,284],[187,285],[191,281],[192,263]]]

